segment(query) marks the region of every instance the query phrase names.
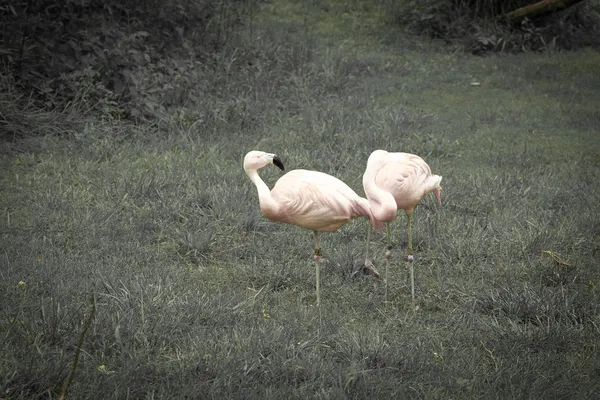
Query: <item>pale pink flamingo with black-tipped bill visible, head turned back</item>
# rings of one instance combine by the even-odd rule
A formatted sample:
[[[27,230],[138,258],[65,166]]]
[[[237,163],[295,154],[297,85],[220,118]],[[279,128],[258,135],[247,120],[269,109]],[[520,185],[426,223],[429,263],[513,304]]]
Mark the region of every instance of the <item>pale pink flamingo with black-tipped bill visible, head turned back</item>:
[[[273,190],[269,190],[258,175],[258,170],[268,164],[284,170],[281,159],[272,153],[254,150],[244,157],[244,171],[258,190],[263,215],[271,221],[313,231],[317,305],[320,305],[321,248],[318,232],[335,232],[356,217],[368,217],[378,230],[383,224],[373,216],[367,199],[357,195],[341,180],[323,172],[296,169],[279,178]],[[378,276],[372,264],[369,264],[365,262],[365,269]]]

